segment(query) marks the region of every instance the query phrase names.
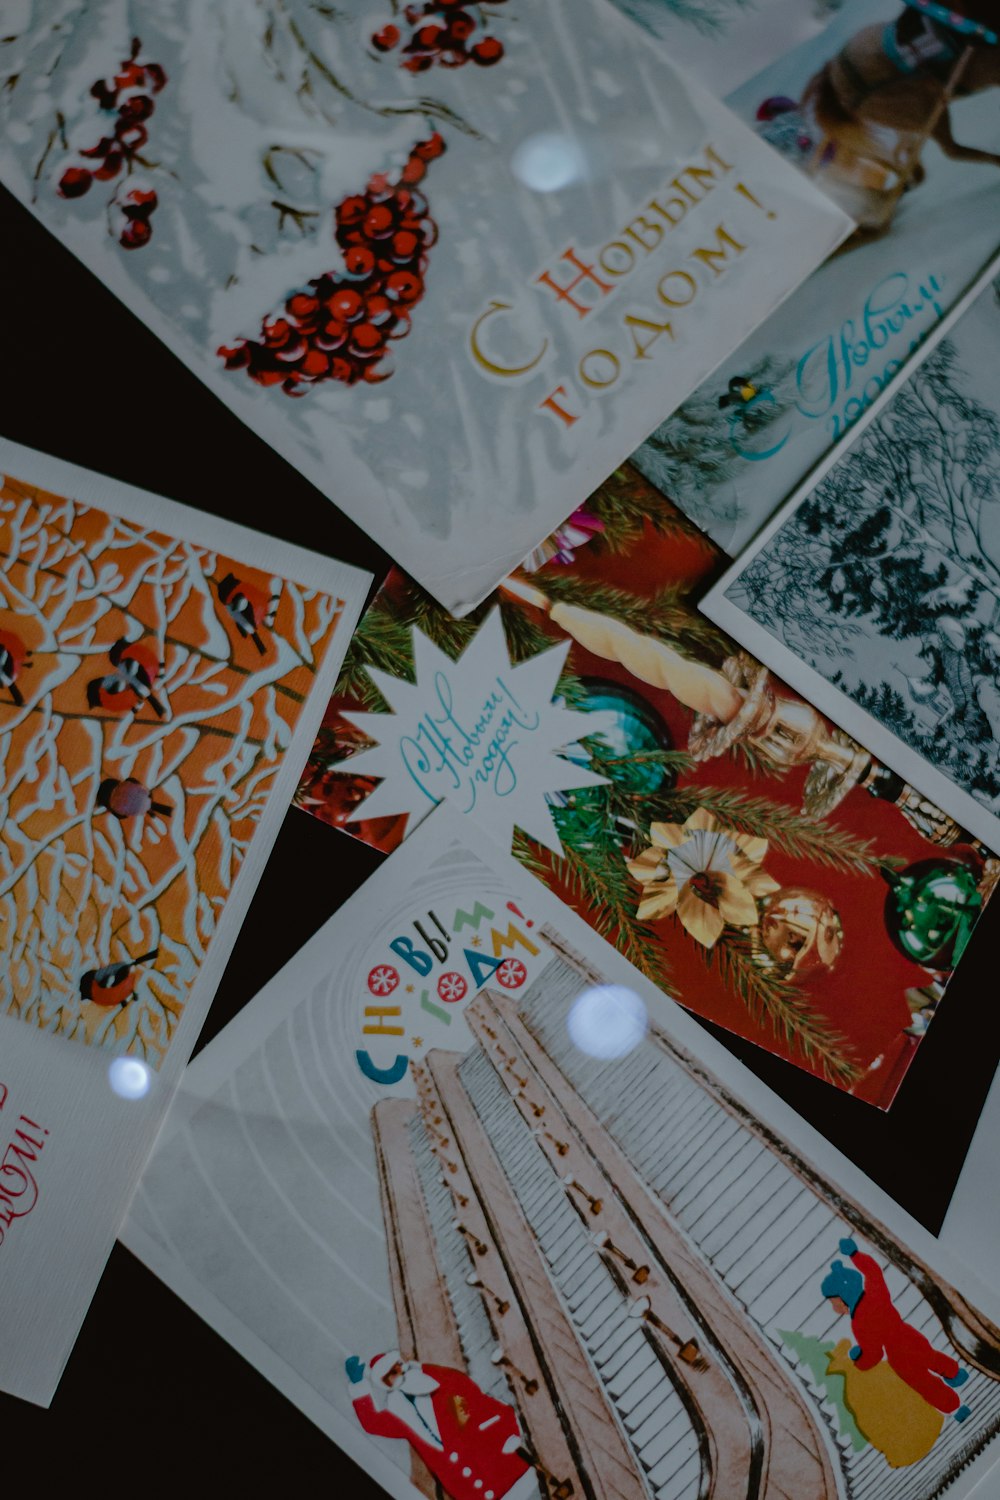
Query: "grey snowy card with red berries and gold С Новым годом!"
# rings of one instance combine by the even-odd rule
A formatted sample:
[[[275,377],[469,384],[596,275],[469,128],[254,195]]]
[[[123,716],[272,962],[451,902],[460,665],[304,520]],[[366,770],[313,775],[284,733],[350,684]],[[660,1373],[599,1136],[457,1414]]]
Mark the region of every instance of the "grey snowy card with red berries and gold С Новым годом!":
[[[607,0],[4,30],[0,178],[457,612],[850,228]]]

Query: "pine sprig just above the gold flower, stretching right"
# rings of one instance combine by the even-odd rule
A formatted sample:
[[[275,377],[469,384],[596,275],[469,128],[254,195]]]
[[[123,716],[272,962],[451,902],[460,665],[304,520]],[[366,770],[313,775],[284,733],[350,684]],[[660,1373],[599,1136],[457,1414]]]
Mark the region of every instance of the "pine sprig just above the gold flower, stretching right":
[[[682,824],[699,807],[705,807],[739,832],[766,838],[792,860],[808,860],[828,870],[877,874],[889,864],[876,854],[871,838],[859,838],[837,824],[798,813],[766,796],[751,796],[720,786],[685,786],[670,792],[669,801],[673,810],[666,820]]]

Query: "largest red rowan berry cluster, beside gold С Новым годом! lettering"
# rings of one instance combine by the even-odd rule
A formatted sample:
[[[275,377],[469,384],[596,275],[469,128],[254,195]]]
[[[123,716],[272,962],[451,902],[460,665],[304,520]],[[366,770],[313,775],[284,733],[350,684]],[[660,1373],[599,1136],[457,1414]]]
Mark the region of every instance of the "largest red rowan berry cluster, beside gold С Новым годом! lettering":
[[[261,338],[223,345],[229,370],[244,369],[258,386],[304,396],[325,380],[355,386],[387,380],[390,339],[409,333],[409,315],[424,294],[427,250],[438,228],[417,183],[445,144],[435,134],[414,146],[396,182],[382,172],[367,190],[337,204],[336,240],[343,270],[324,272],[306,291],[261,324]]]

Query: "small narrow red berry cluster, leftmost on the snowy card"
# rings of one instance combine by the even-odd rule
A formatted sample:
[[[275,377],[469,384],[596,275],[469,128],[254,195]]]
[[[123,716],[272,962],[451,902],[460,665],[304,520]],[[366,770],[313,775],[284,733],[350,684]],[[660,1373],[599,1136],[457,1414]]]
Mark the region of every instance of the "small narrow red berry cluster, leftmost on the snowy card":
[[[121,72],[111,81],[99,78],[90,87],[91,96],[102,110],[115,114],[111,135],[102,135],[96,146],[79,152],[87,165],[67,166],[58,180],[63,198],[82,198],[94,182],[111,182],[123,166],[129,171],[138,153],[148,141],[145,122],[153,114],[153,94],[166,82],[166,74],[159,63],[139,63],[142,50],[139,38],[132,39],[132,51],[121,60]],[[156,208],[156,194],[151,189],[132,189],[121,200],[114,200],[123,214],[124,225],[118,243],[126,249],[147,244],[153,228],[150,214]]]

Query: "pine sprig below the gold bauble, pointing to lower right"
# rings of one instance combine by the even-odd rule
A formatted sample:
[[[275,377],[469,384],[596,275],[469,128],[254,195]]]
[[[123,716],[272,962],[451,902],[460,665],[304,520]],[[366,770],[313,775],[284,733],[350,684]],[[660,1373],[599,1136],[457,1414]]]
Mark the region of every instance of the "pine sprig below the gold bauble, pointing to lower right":
[[[727,990],[736,994],[756,1022],[768,1022],[775,1036],[817,1066],[841,1088],[856,1083],[861,1068],[850,1056],[847,1038],[819,1016],[798,986],[768,974],[754,962],[750,938],[727,927],[714,948],[697,945],[711,969],[718,969]]]

